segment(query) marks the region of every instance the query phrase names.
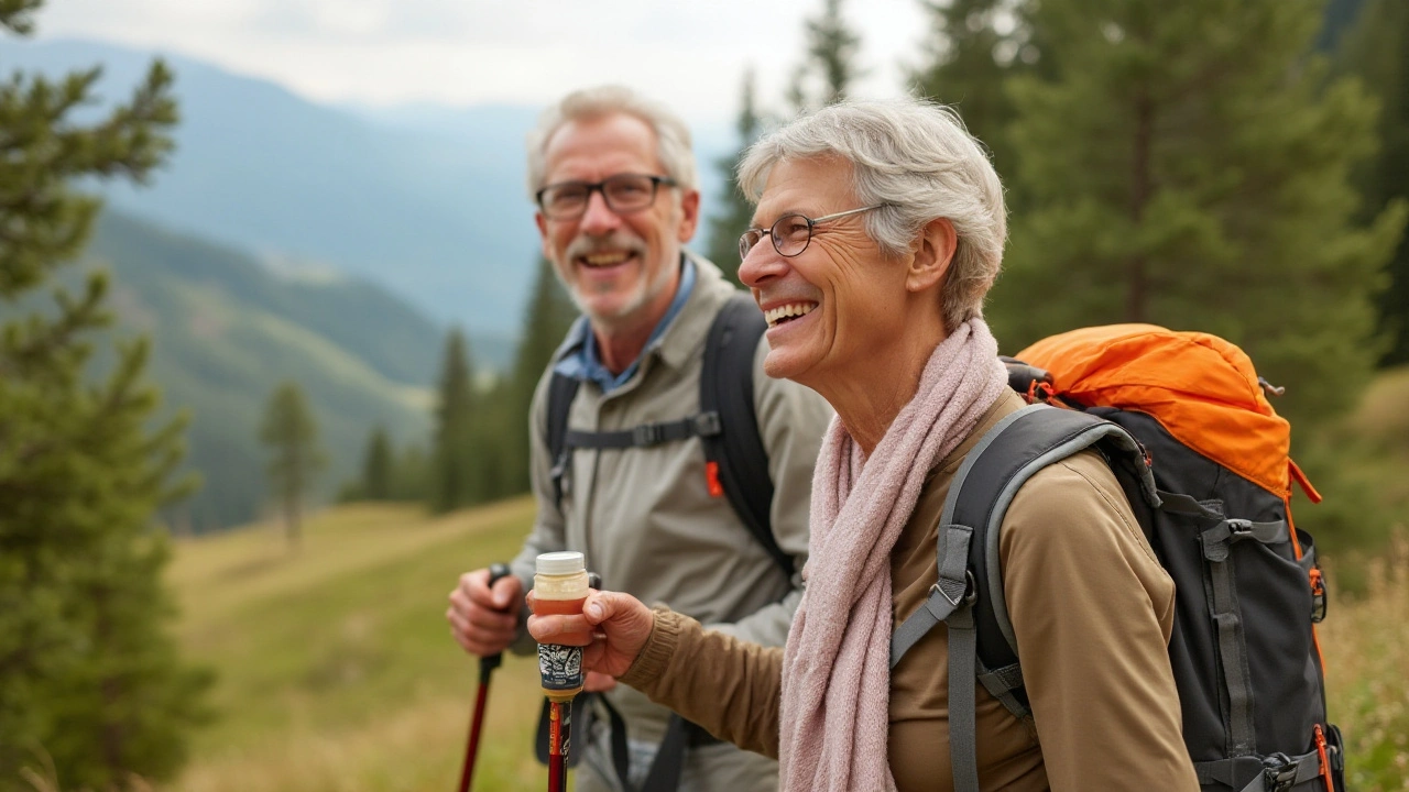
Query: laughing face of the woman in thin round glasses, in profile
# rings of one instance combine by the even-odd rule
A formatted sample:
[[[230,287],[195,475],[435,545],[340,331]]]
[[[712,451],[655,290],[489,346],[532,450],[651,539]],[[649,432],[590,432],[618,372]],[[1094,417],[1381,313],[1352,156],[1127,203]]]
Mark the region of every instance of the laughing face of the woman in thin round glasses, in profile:
[[[769,172],[752,225],[766,230],[785,214],[823,217],[861,206],[850,162],[783,161]],[[738,276],[768,320],[768,376],[813,388],[823,378],[865,376],[867,362],[903,335],[906,266],[867,235],[865,216],[819,224],[796,256],[779,255],[765,234],[744,258]]]

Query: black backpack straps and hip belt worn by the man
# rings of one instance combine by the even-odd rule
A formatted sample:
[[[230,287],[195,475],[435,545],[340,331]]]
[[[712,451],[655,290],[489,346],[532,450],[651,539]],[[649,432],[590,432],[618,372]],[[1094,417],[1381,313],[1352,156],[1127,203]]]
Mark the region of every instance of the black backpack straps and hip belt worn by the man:
[[[617,431],[578,431],[568,428],[568,412],[578,393],[579,380],[554,372],[548,382],[547,444],[552,465],[552,485],[562,502],[564,476],[576,448],[650,448],[699,437],[704,445],[704,472],[710,495],[728,497],[734,513],[758,544],[768,551],[774,564],[789,579],[793,574],[792,557],[774,538],[771,507],[774,482],[768,474],[768,452],[758,435],[754,414],[754,354],[758,340],[768,330],[764,314],[752,297],[735,293],[716,314],[704,340],[704,359],[700,371],[699,414],[674,421],[641,424]],[[590,696],[573,699],[571,743],[583,745],[588,736],[588,702]],[[624,789],[630,769],[626,724],[610,703],[597,696],[607,712],[612,727],[612,764]],[[699,726],[672,714],[650,775],[641,792],[669,792],[679,786],[685,748],[714,743]],[[535,741],[538,761],[548,764],[548,700],[544,699]],[[579,753],[569,754],[576,765]]]

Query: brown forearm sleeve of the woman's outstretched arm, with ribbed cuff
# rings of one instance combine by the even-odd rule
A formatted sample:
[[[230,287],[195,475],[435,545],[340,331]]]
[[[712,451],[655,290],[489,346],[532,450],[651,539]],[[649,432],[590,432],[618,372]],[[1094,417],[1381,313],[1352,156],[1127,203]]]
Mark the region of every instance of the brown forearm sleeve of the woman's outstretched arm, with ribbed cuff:
[[[658,605],[621,683],[740,748],[778,758],[782,647],[762,647]]]

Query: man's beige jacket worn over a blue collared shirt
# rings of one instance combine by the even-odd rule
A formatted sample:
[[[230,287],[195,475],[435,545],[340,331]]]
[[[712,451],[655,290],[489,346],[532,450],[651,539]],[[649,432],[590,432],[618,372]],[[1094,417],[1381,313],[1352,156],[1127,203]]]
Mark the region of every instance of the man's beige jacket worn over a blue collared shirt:
[[[609,431],[699,413],[704,337],[735,289],[713,264],[695,256],[692,261],[695,287],[665,333],[643,352],[640,369],[610,395],[583,382],[568,416],[569,427]],[[766,352],[766,341],[759,340],[754,409],[775,488],[774,536],[793,557],[795,569],[802,569],[807,559],[812,468],[831,407],[800,385],[764,375]],[[802,596],[800,578],[795,574],[786,579],[734,514],[728,499],[709,495],[699,438],[654,448],[575,451],[559,510],[544,437],[551,372],[550,366],[540,380],[531,412],[538,516],[511,564],[526,590],[533,583],[534,557],[579,550],[588,569],[602,575],[604,588],[668,603],[748,641],[782,645]],[[526,636],[516,648],[533,647]],[[624,686],[610,699],[627,720],[633,740],[661,738],[666,709]]]

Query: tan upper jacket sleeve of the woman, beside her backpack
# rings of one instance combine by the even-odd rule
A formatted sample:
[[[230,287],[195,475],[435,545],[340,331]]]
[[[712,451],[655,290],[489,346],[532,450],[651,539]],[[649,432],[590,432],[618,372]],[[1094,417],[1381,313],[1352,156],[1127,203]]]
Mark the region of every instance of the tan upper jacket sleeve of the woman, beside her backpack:
[[[1169,667],[1174,582],[1095,452],[1038,472],[1000,533],[1053,792],[1199,788]]]

